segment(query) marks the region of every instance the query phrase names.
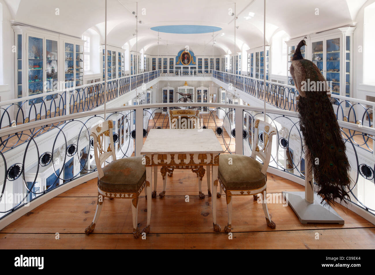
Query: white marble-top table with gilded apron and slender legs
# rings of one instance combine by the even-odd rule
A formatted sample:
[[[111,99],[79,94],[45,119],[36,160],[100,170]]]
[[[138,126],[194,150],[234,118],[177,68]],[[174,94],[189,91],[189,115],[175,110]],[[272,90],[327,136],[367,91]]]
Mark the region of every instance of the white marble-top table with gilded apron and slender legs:
[[[155,171],[155,180],[157,166],[181,166],[181,169],[206,166],[212,169],[213,227],[214,231],[219,232],[220,226],[216,223],[216,191],[220,153],[223,153],[223,149],[212,129],[151,129],[141,150],[141,155],[145,155],[146,166],[147,224],[150,224],[151,219],[152,169]]]

